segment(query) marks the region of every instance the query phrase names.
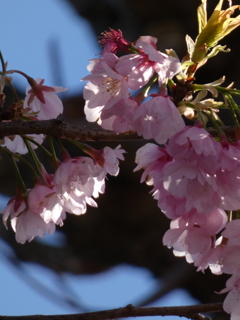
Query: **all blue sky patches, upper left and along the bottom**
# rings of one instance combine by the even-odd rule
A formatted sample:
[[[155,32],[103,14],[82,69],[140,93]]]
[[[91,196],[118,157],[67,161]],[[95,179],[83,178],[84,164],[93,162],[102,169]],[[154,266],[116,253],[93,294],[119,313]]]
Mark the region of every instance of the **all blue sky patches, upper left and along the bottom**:
[[[46,85],[66,86],[68,95],[79,93],[84,85],[79,79],[87,74],[87,60],[100,51],[90,25],[80,20],[64,0],[1,0],[0,11],[0,50],[9,69],[44,78]],[[50,52],[54,50],[57,56],[53,57]],[[59,60],[57,69],[52,66],[53,60]],[[25,90],[25,79],[13,77],[14,83]],[[2,197],[1,208],[6,202]],[[51,240],[57,242],[57,237],[55,234]],[[76,310],[61,299],[55,300],[66,291],[87,308],[122,307],[141,300],[156,286],[151,274],[141,268],[123,265],[98,275],[59,278],[34,264],[14,266],[6,259],[12,254],[5,243],[0,243],[1,315],[74,313]],[[193,303],[187,293],[177,290],[156,305]]]

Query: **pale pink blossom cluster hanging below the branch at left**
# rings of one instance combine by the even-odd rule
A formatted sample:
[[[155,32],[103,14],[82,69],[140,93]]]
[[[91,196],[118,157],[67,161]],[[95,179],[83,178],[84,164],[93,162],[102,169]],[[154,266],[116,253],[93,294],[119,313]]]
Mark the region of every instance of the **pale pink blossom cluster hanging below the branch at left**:
[[[32,190],[8,202],[1,213],[6,227],[10,217],[17,242],[54,233],[55,225],[63,225],[66,212],[80,215],[86,212],[87,204],[97,207],[92,197],[104,193],[107,174],[118,174],[125,151],[119,147],[91,151],[93,158],[66,157],[54,175],[42,169],[43,177]]]

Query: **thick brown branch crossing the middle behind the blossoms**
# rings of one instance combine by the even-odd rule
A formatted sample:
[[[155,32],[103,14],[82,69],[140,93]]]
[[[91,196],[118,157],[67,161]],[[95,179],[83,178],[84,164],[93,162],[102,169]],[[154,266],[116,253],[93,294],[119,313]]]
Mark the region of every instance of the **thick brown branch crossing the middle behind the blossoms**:
[[[217,137],[214,128],[208,128],[208,132]],[[226,135],[235,139],[234,128],[222,128]],[[12,135],[45,134],[56,138],[65,138],[81,141],[124,141],[142,139],[135,132],[115,133],[101,128],[90,129],[87,127],[72,126],[64,121],[51,119],[42,121],[21,121],[0,123],[0,138]]]

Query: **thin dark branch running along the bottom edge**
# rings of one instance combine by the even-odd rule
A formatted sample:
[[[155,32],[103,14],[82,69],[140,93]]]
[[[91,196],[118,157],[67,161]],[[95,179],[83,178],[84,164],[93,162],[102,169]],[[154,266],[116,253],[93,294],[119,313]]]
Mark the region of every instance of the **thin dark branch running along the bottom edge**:
[[[127,305],[124,308],[65,315],[31,315],[31,316],[0,316],[0,320],[105,320],[128,317],[146,316],[179,316],[189,319],[209,319],[200,315],[205,312],[223,312],[222,303],[203,305],[181,306],[181,307],[150,307],[138,308]]]

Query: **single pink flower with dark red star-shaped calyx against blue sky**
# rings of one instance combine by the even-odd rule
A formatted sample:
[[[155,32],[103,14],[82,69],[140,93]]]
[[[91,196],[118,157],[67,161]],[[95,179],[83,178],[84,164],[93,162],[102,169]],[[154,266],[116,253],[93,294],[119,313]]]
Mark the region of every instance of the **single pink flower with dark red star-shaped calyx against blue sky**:
[[[33,112],[37,112],[39,120],[55,119],[63,112],[62,101],[55,92],[66,91],[63,87],[49,87],[43,85],[43,79],[28,79],[31,85],[26,89],[24,108],[30,107]]]

